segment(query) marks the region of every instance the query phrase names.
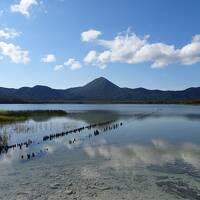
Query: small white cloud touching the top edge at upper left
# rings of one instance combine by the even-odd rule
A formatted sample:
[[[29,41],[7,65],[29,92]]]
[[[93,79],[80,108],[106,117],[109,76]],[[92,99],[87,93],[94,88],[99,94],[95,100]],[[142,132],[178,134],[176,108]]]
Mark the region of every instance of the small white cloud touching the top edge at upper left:
[[[22,15],[29,17],[29,9],[34,5],[38,5],[38,0],[20,0],[19,4],[11,5],[10,9],[12,12],[20,12]]]

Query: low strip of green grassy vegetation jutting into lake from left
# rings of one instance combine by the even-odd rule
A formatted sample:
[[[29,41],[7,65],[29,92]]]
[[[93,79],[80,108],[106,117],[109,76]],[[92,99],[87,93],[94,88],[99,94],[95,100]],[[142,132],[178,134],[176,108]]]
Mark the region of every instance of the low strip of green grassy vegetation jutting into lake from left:
[[[0,111],[0,123],[25,121],[36,117],[65,116],[63,110]]]

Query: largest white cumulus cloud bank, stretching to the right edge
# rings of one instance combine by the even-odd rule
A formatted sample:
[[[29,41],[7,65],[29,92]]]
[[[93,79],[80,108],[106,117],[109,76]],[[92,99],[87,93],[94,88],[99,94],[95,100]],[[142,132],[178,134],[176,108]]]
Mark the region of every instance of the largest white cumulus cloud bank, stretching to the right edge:
[[[92,40],[88,40],[91,42]],[[101,52],[90,51],[84,62],[105,68],[108,63],[151,63],[152,68],[162,68],[169,64],[192,65],[200,62],[200,35],[195,35],[192,41],[176,48],[162,42],[149,42],[149,35],[139,37],[128,30],[118,34],[112,40],[98,39],[96,43],[103,47]]]

